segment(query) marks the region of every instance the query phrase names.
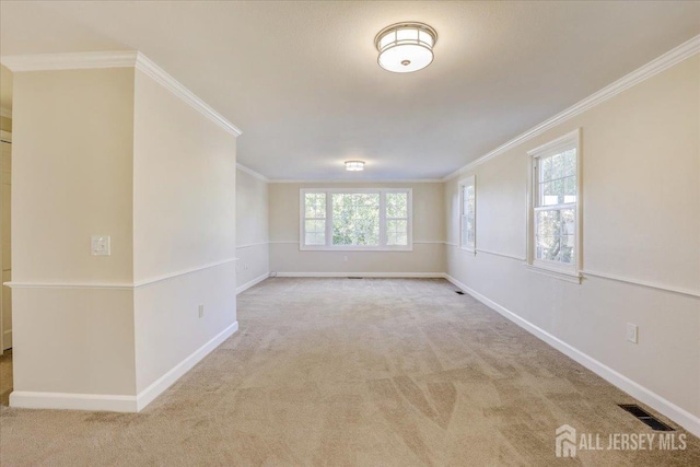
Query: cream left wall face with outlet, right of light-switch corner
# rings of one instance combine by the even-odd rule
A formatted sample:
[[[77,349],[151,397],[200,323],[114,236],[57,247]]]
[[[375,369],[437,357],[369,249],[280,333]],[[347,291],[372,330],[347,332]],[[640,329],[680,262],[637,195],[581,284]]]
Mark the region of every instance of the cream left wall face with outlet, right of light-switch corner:
[[[235,330],[236,138],[138,69],[135,82],[135,331],[142,394],[151,385],[156,393],[167,387],[173,374]]]

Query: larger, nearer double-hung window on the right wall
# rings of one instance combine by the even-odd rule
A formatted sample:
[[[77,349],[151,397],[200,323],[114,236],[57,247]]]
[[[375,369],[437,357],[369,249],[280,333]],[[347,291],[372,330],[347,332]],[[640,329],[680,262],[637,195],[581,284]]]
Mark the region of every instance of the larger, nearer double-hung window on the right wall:
[[[532,156],[528,264],[579,276],[580,131],[528,152]]]

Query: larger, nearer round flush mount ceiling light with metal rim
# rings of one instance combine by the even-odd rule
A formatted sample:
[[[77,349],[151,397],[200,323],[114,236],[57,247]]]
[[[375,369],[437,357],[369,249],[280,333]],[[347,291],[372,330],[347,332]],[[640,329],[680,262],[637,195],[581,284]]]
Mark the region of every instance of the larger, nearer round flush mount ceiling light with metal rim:
[[[392,24],[374,38],[380,67],[395,73],[410,73],[428,67],[433,61],[436,42],[435,30],[423,23]]]

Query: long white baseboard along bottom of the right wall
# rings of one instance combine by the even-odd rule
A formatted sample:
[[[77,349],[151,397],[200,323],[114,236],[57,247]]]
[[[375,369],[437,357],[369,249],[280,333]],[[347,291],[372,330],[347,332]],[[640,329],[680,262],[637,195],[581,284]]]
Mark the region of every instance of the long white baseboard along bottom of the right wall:
[[[499,305],[498,303],[491,301],[490,299],[481,295],[479,292],[468,288],[467,285],[459,282],[452,276],[444,275],[444,278],[447,279],[453,284],[455,284],[456,287],[458,287],[459,289],[462,289],[463,291],[467,292],[469,295],[474,296],[479,302],[483,303],[488,307],[500,313],[501,315],[512,320],[523,329],[527,330],[535,337],[544,340],[555,349],[559,350],[564,355],[571,358],[572,360],[579,362],[586,369],[591,370],[593,373],[603,377],[608,383],[619,387],[630,396],[634,397],[635,399],[642,401],[643,404],[646,404],[649,407],[652,407],[653,409],[668,417],[670,420],[675,421],[676,423],[678,423],[679,425],[681,425],[682,428],[685,428],[696,436],[700,436],[700,418],[699,417],[690,413],[689,411],[687,411],[681,407],[676,406],[675,404],[663,398],[658,394],[648,389],[646,387],[630,380],[623,374],[618,373],[617,371],[605,365],[604,363],[600,363],[594,358],[583,353],[582,351],[570,346],[563,340],[552,336],[551,334],[547,332],[540,327],[535,326],[534,324],[529,323],[526,319],[523,319],[522,317],[511,312],[510,310]]]

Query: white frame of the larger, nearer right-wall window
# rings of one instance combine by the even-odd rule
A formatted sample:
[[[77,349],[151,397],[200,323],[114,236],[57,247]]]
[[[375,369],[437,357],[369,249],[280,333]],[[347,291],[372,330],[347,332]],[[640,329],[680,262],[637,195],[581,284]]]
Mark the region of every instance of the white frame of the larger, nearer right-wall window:
[[[529,156],[529,176],[527,184],[527,261],[526,266],[535,271],[541,272],[559,279],[581,283],[582,264],[582,242],[583,242],[583,190],[582,190],[582,151],[581,151],[581,128],[576,128],[552,141],[527,151]],[[540,206],[539,199],[539,171],[538,162],[542,159],[559,154],[563,151],[576,150],[576,201],[575,203],[555,205],[548,208],[574,207],[574,247],[572,252],[572,264],[567,265],[536,257],[537,222],[536,211]],[[573,206],[572,206],[573,205]],[[546,206],[541,206],[546,207]]]

